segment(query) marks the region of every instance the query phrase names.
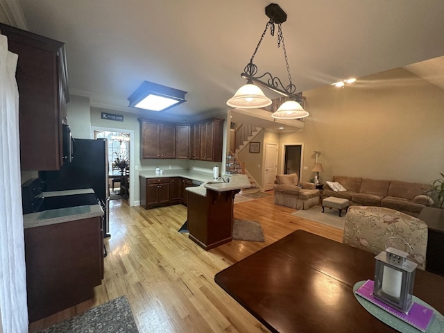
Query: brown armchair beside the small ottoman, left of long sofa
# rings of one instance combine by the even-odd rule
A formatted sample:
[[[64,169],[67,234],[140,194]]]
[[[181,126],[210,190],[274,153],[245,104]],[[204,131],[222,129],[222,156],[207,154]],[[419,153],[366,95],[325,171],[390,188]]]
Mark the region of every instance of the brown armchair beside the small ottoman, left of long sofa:
[[[276,176],[273,185],[274,203],[294,208],[308,210],[321,200],[321,194],[312,182],[299,182],[296,173]]]

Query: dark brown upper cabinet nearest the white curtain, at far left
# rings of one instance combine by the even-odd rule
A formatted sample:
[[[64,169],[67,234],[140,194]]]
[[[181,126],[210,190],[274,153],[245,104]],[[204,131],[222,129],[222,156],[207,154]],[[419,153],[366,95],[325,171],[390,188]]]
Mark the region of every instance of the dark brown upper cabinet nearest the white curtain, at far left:
[[[62,123],[69,101],[65,44],[6,24],[1,34],[18,54],[21,169],[58,170],[63,164]]]

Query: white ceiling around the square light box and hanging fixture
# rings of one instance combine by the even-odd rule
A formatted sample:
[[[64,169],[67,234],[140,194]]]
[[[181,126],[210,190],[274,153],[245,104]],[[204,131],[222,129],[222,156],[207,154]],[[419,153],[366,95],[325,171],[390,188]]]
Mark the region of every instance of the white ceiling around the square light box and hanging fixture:
[[[245,82],[240,74],[264,31],[270,3],[0,0],[0,5],[5,1],[18,1],[30,31],[66,43],[71,94],[89,96],[92,106],[146,115],[128,108],[127,99],[149,80],[188,92],[186,103],[165,112],[178,120],[228,109],[225,102]],[[443,0],[278,4],[288,15],[282,30],[298,91],[444,55]],[[255,64],[259,73],[269,71],[287,83],[276,35],[266,35]]]

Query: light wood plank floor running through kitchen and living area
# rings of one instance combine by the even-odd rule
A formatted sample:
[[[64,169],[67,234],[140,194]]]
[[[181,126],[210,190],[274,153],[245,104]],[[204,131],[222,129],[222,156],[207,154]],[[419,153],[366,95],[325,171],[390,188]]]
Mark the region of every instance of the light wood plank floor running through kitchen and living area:
[[[273,191],[268,191],[273,194]],[[261,223],[265,242],[232,241],[210,251],[178,232],[187,207],[144,210],[110,203],[105,278],[95,298],[29,325],[30,332],[128,296],[139,332],[268,332],[215,282],[214,275],[294,230],[341,241],[342,230],[291,216],[273,196],[234,205],[234,217]]]

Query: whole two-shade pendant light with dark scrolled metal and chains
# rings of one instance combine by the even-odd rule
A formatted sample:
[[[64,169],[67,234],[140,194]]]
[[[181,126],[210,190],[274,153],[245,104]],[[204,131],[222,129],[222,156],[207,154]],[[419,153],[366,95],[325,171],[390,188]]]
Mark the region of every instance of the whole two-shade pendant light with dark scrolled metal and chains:
[[[265,96],[264,92],[257,87],[260,85],[262,87],[266,87],[267,89],[272,90],[273,92],[278,92],[282,96],[289,97],[289,101],[286,101],[280,108],[273,114],[271,117],[275,119],[300,119],[307,117],[309,113],[302,108],[300,103],[303,102],[303,97],[300,94],[295,94],[296,85],[293,85],[291,82],[291,74],[290,67],[287,58],[287,50],[285,49],[284,44],[284,35],[282,33],[282,23],[287,21],[287,14],[280,8],[280,6],[276,3],[271,3],[265,8],[265,14],[270,19],[266,26],[264,33],[259,40],[259,43],[256,46],[255,51],[253,52],[253,56],[250,58],[250,62],[244,68],[244,73],[241,74],[242,78],[247,80],[247,84],[239,88],[236,94],[232,96],[231,99],[227,101],[227,105],[232,108],[264,108],[273,103],[271,99],[268,99]],[[270,28],[270,33],[272,36],[275,34],[275,24],[278,24],[278,47],[282,44],[282,49],[284,51],[284,58],[287,65],[287,73],[289,75],[289,85],[284,86],[282,81],[277,76],[273,76],[271,73],[266,72],[262,76],[257,75],[257,66],[253,63],[253,60],[256,56],[257,51],[259,50],[259,46],[264,40],[264,36],[266,35],[266,31]],[[262,78],[266,78],[266,82],[261,80]]]

